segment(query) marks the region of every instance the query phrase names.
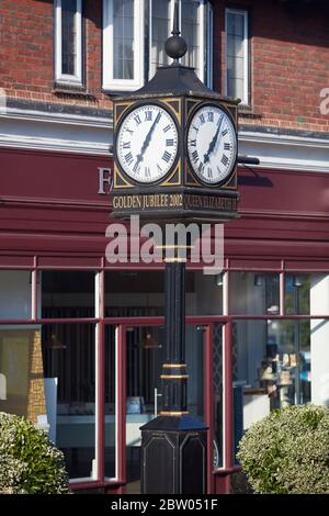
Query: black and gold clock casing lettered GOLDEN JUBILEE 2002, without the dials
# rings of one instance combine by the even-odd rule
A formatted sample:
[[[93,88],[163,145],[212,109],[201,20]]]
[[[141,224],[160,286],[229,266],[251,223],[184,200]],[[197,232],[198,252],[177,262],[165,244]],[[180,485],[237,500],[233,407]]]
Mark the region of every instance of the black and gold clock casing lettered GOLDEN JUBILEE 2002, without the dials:
[[[236,218],[239,193],[237,190],[237,105],[239,100],[225,98],[206,88],[194,70],[181,65],[159,68],[154,79],[137,92],[113,100],[114,112],[114,181],[113,215],[140,217],[159,222],[215,222]],[[164,110],[177,127],[177,155],[167,173],[155,181],[141,182],[123,167],[117,154],[120,131],[129,113],[139,106],[155,105]],[[188,132],[193,116],[203,106],[225,112],[235,135],[234,157],[229,173],[214,183],[195,172],[189,157]],[[141,110],[143,112],[143,110]],[[151,128],[151,125],[149,124]],[[138,131],[138,126],[131,127]],[[215,132],[215,127],[213,130]],[[147,133],[147,131],[146,131]],[[154,137],[154,135],[151,135]],[[156,134],[155,134],[156,136]],[[222,137],[219,135],[219,137]],[[145,138],[140,139],[140,147]],[[209,138],[209,146],[212,138]],[[136,145],[136,144],[135,144]],[[207,144],[205,144],[207,146]],[[222,145],[220,142],[218,145]],[[164,150],[161,150],[161,153]],[[133,156],[136,166],[138,152]],[[155,162],[161,156],[155,156]],[[213,159],[214,162],[214,159]],[[139,165],[139,164],[138,164]],[[216,164],[215,164],[216,165]]]

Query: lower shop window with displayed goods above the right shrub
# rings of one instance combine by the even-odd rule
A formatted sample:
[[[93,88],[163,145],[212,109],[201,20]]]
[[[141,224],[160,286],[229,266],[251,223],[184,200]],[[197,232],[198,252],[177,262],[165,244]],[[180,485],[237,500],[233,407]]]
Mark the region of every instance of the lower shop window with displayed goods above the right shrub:
[[[310,350],[316,343],[310,324],[308,319],[235,322],[234,385],[239,386],[241,406],[235,411],[235,427],[240,428],[235,451],[243,431],[272,410],[311,401]]]

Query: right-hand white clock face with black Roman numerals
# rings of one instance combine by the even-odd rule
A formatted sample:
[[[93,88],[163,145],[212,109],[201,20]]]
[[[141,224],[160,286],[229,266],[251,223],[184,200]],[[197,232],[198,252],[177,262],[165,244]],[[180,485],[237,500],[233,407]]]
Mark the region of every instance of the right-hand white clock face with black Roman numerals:
[[[204,105],[193,115],[188,130],[188,154],[201,181],[217,184],[232,171],[237,136],[229,115],[216,105]]]

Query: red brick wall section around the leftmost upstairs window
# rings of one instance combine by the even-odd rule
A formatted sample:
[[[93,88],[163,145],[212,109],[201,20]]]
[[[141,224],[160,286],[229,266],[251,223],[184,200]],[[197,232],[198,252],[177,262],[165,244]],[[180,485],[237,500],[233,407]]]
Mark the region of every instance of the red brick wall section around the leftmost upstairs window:
[[[54,88],[53,0],[0,2],[0,88],[9,97],[109,108],[101,93],[102,1],[84,0],[86,91]]]

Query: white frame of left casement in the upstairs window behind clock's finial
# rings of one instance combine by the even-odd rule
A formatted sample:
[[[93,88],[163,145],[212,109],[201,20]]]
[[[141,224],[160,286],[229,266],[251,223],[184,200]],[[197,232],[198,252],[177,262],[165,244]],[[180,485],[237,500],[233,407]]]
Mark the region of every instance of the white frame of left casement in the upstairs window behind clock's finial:
[[[134,0],[134,79],[114,79],[113,0],[103,0],[103,90],[132,91],[144,85],[145,0]]]

